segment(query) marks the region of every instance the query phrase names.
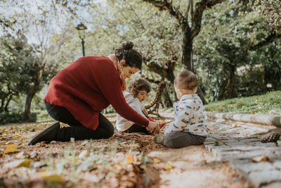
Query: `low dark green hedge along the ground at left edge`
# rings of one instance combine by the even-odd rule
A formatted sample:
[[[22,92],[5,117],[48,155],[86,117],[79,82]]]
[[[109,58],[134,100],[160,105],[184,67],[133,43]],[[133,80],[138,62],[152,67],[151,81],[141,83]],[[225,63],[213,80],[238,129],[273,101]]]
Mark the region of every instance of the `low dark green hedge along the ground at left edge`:
[[[22,112],[1,112],[0,113],[0,124],[6,123],[22,123]],[[30,114],[30,121],[35,122],[37,120],[37,113]]]

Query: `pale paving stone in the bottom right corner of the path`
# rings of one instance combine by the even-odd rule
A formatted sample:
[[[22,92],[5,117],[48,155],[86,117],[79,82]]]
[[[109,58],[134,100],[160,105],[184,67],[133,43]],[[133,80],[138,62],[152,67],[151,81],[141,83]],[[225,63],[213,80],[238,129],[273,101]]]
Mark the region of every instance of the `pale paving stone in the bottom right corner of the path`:
[[[262,184],[270,182],[281,182],[281,173],[280,170],[262,170],[249,173],[248,179],[254,187],[260,187]]]

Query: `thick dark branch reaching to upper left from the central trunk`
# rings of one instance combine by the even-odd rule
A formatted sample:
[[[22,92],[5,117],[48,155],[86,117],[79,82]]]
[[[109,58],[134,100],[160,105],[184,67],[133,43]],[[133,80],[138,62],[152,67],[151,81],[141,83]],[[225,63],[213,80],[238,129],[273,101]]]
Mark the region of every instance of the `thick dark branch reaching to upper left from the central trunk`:
[[[181,11],[179,11],[177,8],[175,8],[173,6],[172,1],[168,1],[168,0],[143,0],[145,2],[148,2],[150,4],[152,4],[153,6],[159,8],[159,11],[162,10],[166,10],[168,11],[171,15],[173,15],[176,20],[178,20],[178,23],[182,24],[182,23],[188,23],[187,20],[185,20],[185,17],[183,16],[183,14],[181,13]]]

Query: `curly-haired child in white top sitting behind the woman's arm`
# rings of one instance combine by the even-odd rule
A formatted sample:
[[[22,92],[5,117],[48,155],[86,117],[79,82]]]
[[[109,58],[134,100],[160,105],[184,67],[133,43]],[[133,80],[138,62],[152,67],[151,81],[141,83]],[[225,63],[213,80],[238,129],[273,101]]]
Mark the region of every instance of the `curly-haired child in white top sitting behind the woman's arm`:
[[[146,117],[148,112],[145,110],[142,102],[146,99],[151,90],[150,83],[143,78],[138,78],[130,82],[128,90],[129,92],[123,92],[127,104],[129,104],[131,108],[141,114],[144,118],[148,118]],[[146,127],[126,120],[118,113],[116,120],[117,130],[119,132],[143,132],[145,134],[150,134]]]

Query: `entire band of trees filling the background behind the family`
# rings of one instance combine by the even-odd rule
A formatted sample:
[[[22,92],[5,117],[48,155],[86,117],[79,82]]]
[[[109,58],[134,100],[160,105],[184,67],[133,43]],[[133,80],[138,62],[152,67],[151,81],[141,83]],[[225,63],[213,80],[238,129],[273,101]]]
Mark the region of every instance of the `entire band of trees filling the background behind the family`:
[[[79,22],[88,27],[86,56],[107,56],[133,41],[144,62],[136,77],[153,87],[169,83],[164,107],[176,100],[173,82],[182,68],[197,73],[206,101],[281,88],[279,1],[6,0],[1,7],[15,10],[0,13],[2,114],[23,112],[30,120],[30,110],[44,109],[51,77],[81,56]]]

